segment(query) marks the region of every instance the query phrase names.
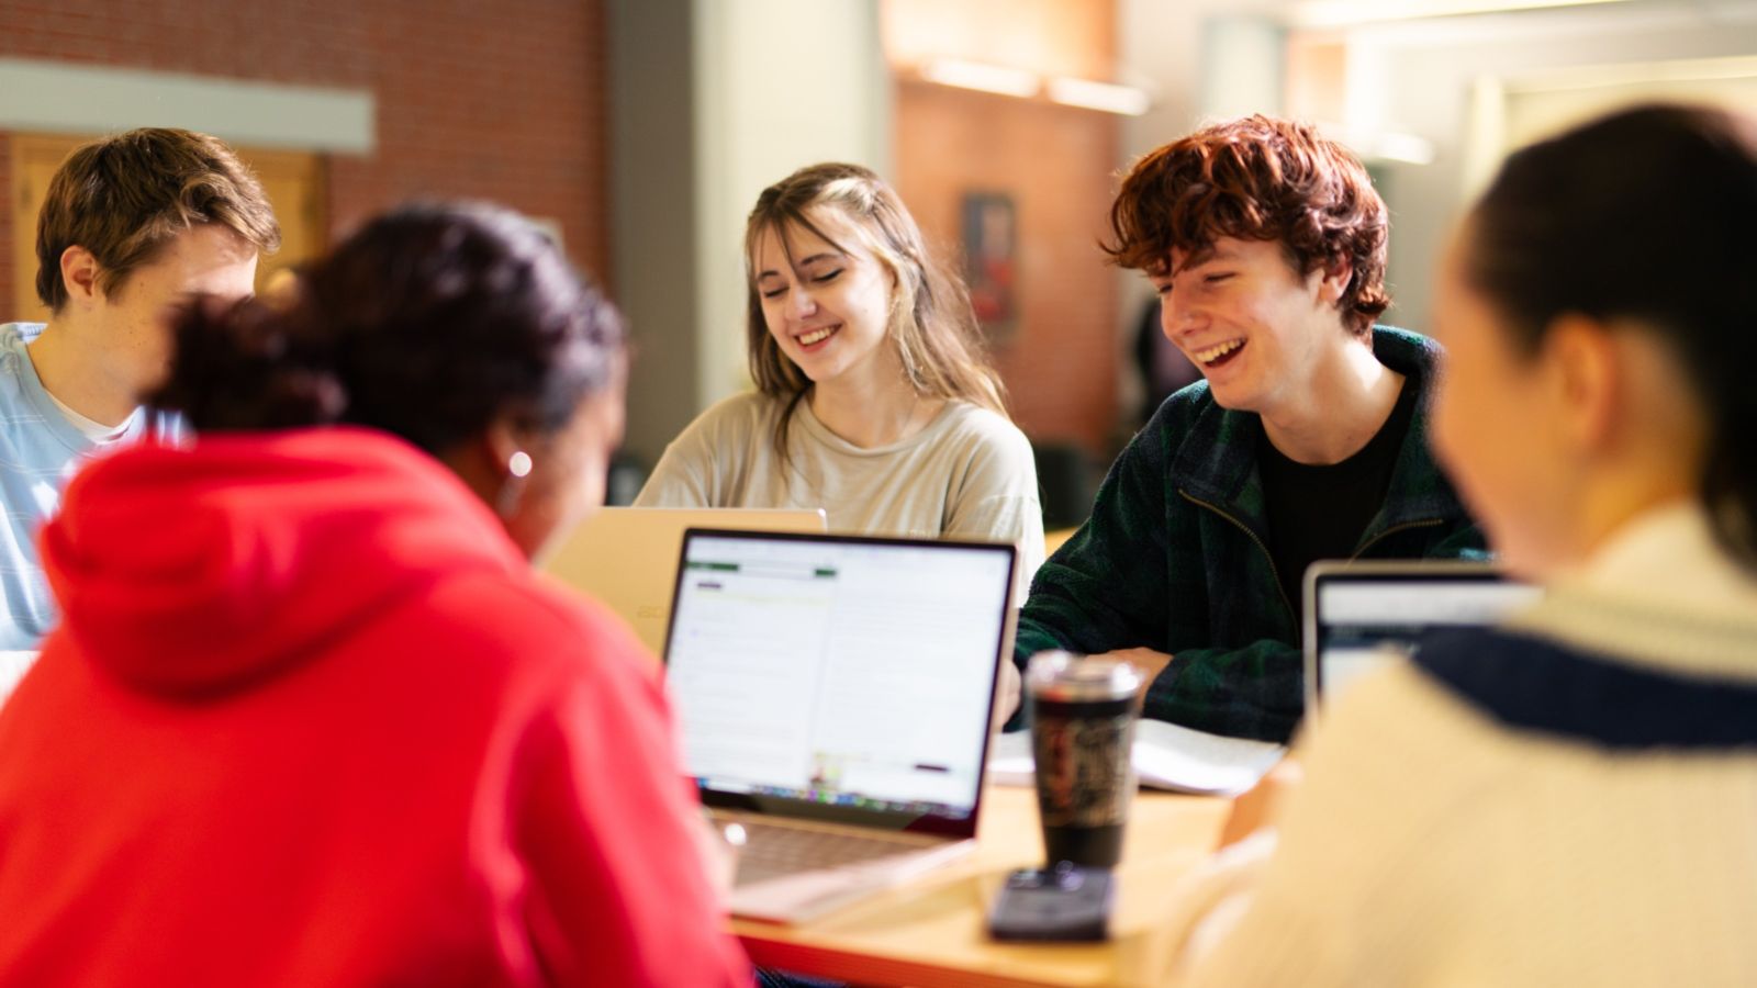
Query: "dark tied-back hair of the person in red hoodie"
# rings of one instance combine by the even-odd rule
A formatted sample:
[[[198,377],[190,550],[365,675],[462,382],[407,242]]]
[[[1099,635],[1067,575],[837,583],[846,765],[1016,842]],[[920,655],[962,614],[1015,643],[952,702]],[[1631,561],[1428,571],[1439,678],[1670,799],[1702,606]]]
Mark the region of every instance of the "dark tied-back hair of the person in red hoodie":
[[[371,425],[439,454],[511,415],[557,429],[604,387],[615,308],[515,213],[409,206],[299,278],[285,304],[195,308],[151,404],[195,431]]]

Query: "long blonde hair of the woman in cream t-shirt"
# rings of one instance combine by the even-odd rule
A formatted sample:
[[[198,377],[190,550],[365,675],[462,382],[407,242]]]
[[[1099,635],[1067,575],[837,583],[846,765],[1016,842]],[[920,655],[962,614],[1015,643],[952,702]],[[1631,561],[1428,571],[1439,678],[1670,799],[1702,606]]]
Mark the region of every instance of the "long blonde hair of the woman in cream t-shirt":
[[[1005,389],[982,346],[970,294],[963,280],[928,255],[921,227],[896,190],[861,165],[808,165],[764,188],[745,223],[750,376],[757,390],[787,403],[775,425],[775,447],[782,457],[787,455],[787,424],[812,380],[782,353],[768,331],[756,281],[757,241],[764,232],[780,236],[796,227],[847,253],[806,214],[819,206],[840,211],[861,244],[891,272],[894,288],[887,336],[915,394],[963,399],[1007,415]],[[785,236],[780,241],[785,250]]]

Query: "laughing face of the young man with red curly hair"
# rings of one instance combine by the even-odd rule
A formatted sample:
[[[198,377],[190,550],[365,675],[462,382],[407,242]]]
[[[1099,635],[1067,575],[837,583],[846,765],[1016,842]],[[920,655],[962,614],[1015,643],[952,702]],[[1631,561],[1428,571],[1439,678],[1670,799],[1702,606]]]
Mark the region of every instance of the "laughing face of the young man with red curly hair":
[[[1221,237],[1174,250],[1153,276],[1160,329],[1189,357],[1223,408],[1272,415],[1304,396],[1323,355],[1351,339],[1334,278],[1300,276],[1276,241]]]

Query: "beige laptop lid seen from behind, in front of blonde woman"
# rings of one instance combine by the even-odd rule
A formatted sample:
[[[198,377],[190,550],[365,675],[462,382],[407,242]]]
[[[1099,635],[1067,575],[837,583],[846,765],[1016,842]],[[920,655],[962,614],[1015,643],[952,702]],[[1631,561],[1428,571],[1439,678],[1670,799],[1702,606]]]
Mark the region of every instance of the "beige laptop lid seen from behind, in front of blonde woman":
[[[828,522],[819,508],[603,508],[573,529],[543,570],[617,612],[657,656],[676,554],[691,527],[826,531]]]

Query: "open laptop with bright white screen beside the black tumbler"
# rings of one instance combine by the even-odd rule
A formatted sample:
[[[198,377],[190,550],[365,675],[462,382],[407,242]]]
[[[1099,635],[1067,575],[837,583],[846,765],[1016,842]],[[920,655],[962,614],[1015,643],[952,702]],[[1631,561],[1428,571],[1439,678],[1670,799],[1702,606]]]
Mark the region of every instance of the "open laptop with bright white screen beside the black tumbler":
[[[747,844],[733,914],[798,921],[975,844],[1016,550],[691,531],[666,677],[685,772]]]

